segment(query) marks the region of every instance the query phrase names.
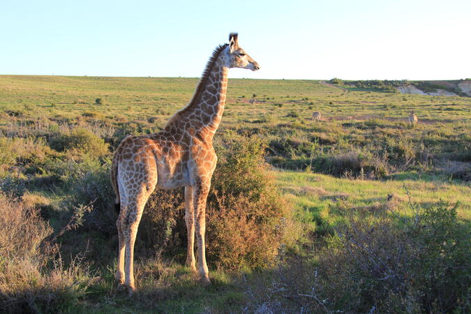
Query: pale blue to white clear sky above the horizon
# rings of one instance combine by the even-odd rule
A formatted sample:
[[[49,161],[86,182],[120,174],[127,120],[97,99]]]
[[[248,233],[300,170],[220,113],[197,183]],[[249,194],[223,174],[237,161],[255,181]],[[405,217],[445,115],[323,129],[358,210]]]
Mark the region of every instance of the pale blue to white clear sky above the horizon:
[[[471,77],[470,0],[0,0],[0,74],[199,77],[231,31],[230,77]]]

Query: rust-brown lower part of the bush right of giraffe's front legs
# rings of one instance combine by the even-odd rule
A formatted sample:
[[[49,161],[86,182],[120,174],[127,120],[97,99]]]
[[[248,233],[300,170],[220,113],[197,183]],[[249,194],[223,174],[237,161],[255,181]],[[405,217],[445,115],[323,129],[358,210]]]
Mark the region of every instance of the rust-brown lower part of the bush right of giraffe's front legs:
[[[225,269],[274,264],[281,245],[291,240],[285,204],[264,194],[256,202],[245,195],[214,197],[218,206],[209,207],[207,223],[211,261]]]

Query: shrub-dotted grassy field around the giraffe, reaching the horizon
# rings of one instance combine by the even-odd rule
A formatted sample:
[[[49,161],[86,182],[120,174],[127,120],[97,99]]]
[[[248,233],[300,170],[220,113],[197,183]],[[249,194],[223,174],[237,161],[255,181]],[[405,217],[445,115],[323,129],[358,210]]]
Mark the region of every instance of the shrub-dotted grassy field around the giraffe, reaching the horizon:
[[[352,305],[354,302],[349,298],[358,300],[364,294],[368,300],[393,303],[396,300],[402,307],[391,310],[392,313],[406,311],[407,306],[412,308],[411,312],[440,313],[453,309],[465,313],[470,309],[470,268],[462,262],[470,257],[471,98],[384,93],[312,80],[229,80],[223,122],[215,137],[216,151],[224,156],[230,154],[227,153],[232,149],[230,143],[246,143],[231,142],[234,136],[249,142],[256,138],[264,143],[264,160],[270,165],[267,175],[274,178],[277,195],[287,202],[288,216],[297,225],[294,228],[297,231],[292,231],[290,237],[297,238],[276,248],[279,253],[275,262],[267,263],[266,267],[251,268],[245,264],[230,269],[215,259],[210,265],[214,284],[200,287],[182,266],[185,248],[169,251],[168,244],[163,248],[157,242],[144,241],[154,231],[152,225],[142,227],[141,242],[152,247],[137,248],[135,273],[139,291],[133,299],[119,292],[113,278],[117,251],[115,217],[109,208],[114,197],[108,181],[112,151],[126,135],[161,130],[168,117],[190,100],[197,80],[0,75],[0,186],[7,195],[3,198],[8,199],[4,207],[36,208],[38,221],[49,225],[50,233],[65,231],[54,242],[55,251],[50,254],[53,257],[45,259],[34,271],[23,265],[20,267],[23,272],[15,273],[11,269],[21,262],[13,255],[10,259],[11,251],[0,251],[5,254],[0,256],[0,265],[2,262],[4,265],[0,267],[0,301],[5,300],[0,306],[9,304],[5,310],[10,312],[22,309],[92,313],[276,313],[299,312],[301,308],[319,313],[352,313],[369,311],[371,306],[390,306],[387,301]],[[97,98],[101,100],[97,102]],[[252,98],[253,105],[249,101]],[[415,126],[405,121],[411,110],[419,118]],[[321,121],[311,121],[313,111],[322,112]],[[91,208],[87,205],[94,207],[93,211],[89,212]],[[422,211],[423,215],[417,214]],[[381,216],[393,212],[396,214]],[[417,231],[413,221],[418,221],[419,216],[424,223]],[[361,233],[358,231],[361,227],[348,229],[356,226],[360,217],[373,226],[371,232]],[[2,221],[12,225],[6,218]],[[428,221],[437,230],[433,241],[420,231],[428,230]],[[164,223],[170,234],[168,239],[173,239],[165,238],[165,243],[180,237],[175,231],[178,222],[172,223]],[[442,234],[439,226],[456,232]],[[375,227],[391,237],[381,238],[373,231]],[[378,280],[375,271],[371,275],[367,267],[359,269],[368,276],[354,272],[353,266],[353,270],[334,276],[329,272],[332,270],[322,268],[322,261],[353,265],[368,256],[355,255],[354,250],[345,251],[350,255],[338,253],[351,248],[350,242],[343,241],[342,230],[350,230],[353,238],[368,239],[373,251],[373,244],[384,246],[387,242],[391,248],[397,245],[399,251],[410,250],[410,256],[421,256],[426,261],[429,256],[421,255],[419,246],[416,250],[417,241],[424,241],[424,247],[437,241],[450,243],[453,248],[449,251],[440,248],[440,256],[446,259],[434,257],[443,264],[431,262],[427,269],[461,271],[459,276],[456,272],[446,275],[461,278],[449,283],[456,287],[453,297],[441,300],[442,303],[427,299],[435,294],[424,292],[425,288],[418,287],[417,281],[430,276],[415,264],[417,268],[411,268],[417,273],[414,281],[404,279],[410,276],[407,271],[404,273],[407,276],[402,277],[394,273],[395,278],[402,278],[397,290],[396,282],[388,286],[387,280]],[[401,232],[408,234],[403,230],[422,235],[403,237]],[[370,238],[373,236],[374,239]],[[38,246],[45,238],[38,240]],[[363,241],[360,240],[357,244]],[[8,239],[5,241],[8,243]],[[0,250],[2,245],[0,242]],[[434,249],[435,246],[428,251]],[[378,250],[380,259],[384,252]],[[394,254],[391,256],[397,255]],[[349,262],[343,260],[347,255],[352,256]],[[24,255],[22,261],[27,257],[38,260],[36,255],[31,256]],[[403,256],[399,253],[397,260]],[[310,266],[292,269],[297,265],[293,261],[300,258]],[[413,264],[412,260],[404,260],[403,264]],[[400,274],[401,267],[394,269]],[[313,278],[317,270],[322,275]],[[448,283],[439,280],[440,271],[434,271],[432,277],[436,280],[431,279],[434,283]],[[298,283],[288,280],[292,274],[301,278]],[[345,291],[349,294],[341,294],[342,285],[334,277],[345,279],[343,283],[349,287]],[[15,282],[17,288],[13,288]],[[353,284],[359,282],[368,283],[370,290],[364,288],[367,292],[360,293],[363,287]],[[50,286],[54,287],[53,292],[47,290]],[[329,290],[327,286],[333,288]],[[463,286],[468,286],[468,292]],[[314,287],[320,291],[318,296]],[[404,287],[410,288],[406,291]],[[377,291],[385,294],[376,295]],[[415,296],[419,292],[426,297]],[[55,296],[50,297],[54,301],[44,301],[45,294]],[[321,294],[329,301],[319,301]],[[36,295],[39,297],[35,299]],[[463,299],[463,295],[468,295],[468,299]]]

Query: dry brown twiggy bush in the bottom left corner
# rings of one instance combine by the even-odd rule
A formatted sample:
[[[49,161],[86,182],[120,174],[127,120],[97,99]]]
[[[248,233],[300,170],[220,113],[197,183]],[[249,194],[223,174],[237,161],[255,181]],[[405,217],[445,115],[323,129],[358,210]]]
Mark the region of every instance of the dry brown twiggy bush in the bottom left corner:
[[[56,258],[38,210],[0,195],[0,230],[0,312],[71,311],[92,279],[80,261],[65,267]]]

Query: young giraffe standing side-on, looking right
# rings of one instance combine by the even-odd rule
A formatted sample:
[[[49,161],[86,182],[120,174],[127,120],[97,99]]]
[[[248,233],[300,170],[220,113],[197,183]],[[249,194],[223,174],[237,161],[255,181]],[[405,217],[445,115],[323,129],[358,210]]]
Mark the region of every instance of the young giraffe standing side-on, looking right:
[[[220,124],[227,91],[229,68],[260,69],[230,33],[229,44],[216,47],[188,105],[152,135],[130,135],[114,153],[111,181],[119,209],[118,265],[115,279],[135,291],[133,251],[142,211],[155,188],[185,187],[185,222],[188,232],[186,264],[197,266],[204,284],[210,284],[204,254],[205,210],[211,177],[216,168],[213,137]],[[125,267],[126,266],[126,267]]]

